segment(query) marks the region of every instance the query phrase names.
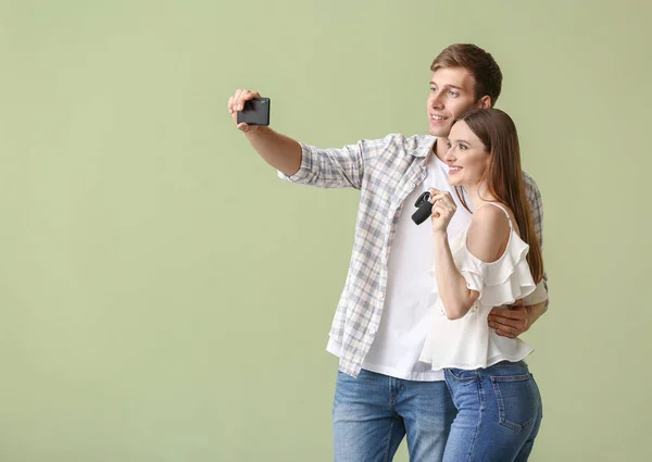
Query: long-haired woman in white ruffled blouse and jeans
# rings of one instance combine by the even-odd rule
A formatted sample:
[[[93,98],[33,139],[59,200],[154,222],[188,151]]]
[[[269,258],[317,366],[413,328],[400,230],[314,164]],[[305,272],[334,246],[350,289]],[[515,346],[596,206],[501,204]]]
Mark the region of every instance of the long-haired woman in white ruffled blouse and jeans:
[[[546,300],[536,290],[543,262],[522,183],[516,127],[500,110],[474,110],[455,122],[448,142],[449,182],[466,190],[474,213],[449,242],[455,202],[449,192],[430,190],[438,298],[421,360],[444,370],[457,408],[443,460],[522,462],[541,423],[539,389],[523,361],[532,349],[487,323],[494,307]]]

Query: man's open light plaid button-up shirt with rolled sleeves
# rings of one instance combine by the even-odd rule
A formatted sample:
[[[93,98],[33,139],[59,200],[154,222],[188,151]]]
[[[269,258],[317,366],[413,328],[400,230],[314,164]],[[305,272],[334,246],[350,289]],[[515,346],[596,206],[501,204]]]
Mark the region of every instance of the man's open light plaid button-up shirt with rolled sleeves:
[[[341,149],[301,143],[301,167],[286,180],[322,188],[360,189],[360,207],[349,273],[330,336],[341,344],[339,370],[353,377],[362,369],[383,314],[387,262],[403,201],[427,176],[435,137],[388,135]],[[535,230],[542,244],[543,209],[535,180],[523,173]],[[548,286],[544,276],[544,287]],[[548,307],[548,302],[547,302]]]

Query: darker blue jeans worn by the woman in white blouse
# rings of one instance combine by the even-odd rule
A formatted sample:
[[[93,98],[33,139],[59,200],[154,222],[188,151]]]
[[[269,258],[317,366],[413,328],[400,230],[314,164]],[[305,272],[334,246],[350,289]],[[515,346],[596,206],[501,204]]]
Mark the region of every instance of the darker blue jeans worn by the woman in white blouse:
[[[527,461],[542,414],[539,388],[525,362],[444,373],[457,416],[443,461]]]

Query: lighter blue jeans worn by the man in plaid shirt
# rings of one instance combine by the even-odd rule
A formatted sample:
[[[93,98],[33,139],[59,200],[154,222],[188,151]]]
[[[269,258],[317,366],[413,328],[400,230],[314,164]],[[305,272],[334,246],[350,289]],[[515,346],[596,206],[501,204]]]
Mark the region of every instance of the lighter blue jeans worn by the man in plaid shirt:
[[[333,407],[336,462],[389,462],[403,437],[412,462],[441,461],[456,411],[443,380],[338,372]]]

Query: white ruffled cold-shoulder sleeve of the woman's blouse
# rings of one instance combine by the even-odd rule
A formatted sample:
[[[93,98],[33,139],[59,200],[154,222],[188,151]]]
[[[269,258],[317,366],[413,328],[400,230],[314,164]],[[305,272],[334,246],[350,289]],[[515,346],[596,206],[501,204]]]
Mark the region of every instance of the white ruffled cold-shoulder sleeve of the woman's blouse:
[[[466,287],[480,294],[478,301],[484,305],[510,304],[536,288],[526,260],[529,246],[513,232],[507,248],[496,262],[485,263],[473,255],[466,248],[466,233],[451,242],[451,249]]]

